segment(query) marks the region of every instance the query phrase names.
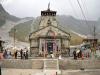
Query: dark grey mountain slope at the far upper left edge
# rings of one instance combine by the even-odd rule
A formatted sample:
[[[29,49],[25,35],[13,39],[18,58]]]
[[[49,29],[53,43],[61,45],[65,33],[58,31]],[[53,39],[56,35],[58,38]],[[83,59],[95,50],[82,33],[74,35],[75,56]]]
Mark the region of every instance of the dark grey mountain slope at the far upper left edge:
[[[3,24],[5,24],[6,20],[13,21],[13,22],[17,22],[17,21],[20,20],[20,18],[15,17],[15,16],[9,14],[3,8],[3,6],[0,4],[0,26],[2,26]]]

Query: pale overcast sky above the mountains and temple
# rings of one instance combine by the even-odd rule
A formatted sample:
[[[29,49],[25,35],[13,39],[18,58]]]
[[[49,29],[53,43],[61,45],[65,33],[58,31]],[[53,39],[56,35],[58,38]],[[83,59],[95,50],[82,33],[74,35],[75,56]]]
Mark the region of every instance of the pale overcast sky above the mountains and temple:
[[[79,0],[84,14],[89,20],[100,17],[100,0]],[[17,17],[37,17],[41,10],[46,10],[50,2],[51,10],[56,10],[58,15],[72,15],[83,18],[77,0],[5,0],[3,7]]]

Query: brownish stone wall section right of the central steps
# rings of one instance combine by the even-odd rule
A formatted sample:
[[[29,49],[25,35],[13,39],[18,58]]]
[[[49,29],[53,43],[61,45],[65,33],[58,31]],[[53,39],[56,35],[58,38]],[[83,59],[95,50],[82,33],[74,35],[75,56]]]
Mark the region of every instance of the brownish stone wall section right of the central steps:
[[[100,69],[100,60],[60,60],[60,69]]]

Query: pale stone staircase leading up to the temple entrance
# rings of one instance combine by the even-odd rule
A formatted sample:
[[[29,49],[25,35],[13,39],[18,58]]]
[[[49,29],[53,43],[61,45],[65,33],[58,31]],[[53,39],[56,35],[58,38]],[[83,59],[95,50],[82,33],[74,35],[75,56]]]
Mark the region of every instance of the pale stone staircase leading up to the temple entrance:
[[[44,59],[44,73],[46,75],[60,75],[58,59]]]

